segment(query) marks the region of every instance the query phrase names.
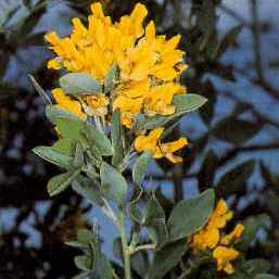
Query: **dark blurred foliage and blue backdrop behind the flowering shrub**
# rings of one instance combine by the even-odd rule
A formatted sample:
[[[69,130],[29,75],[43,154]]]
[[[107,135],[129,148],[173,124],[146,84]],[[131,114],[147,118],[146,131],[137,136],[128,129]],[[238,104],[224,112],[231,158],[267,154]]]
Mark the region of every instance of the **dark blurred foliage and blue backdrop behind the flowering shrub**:
[[[71,278],[76,251],[64,242],[96,219],[114,259],[111,224],[72,191],[51,200],[46,185],[59,170],[30,152],[55,138],[27,76],[46,90],[58,81],[46,68],[52,53],[43,34],[67,35],[92,2],[0,0],[0,279]],[[101,2],[117,20],[137,1]],[[172,205],[215,187],[251,225],[248,256],[269,259],[279,275],[279,1],[141,2],[158,34],[181,34],[190,66],[182,84],[208,98],[172,135],[191,142],[183,164],[152,165],[157,196]]]

